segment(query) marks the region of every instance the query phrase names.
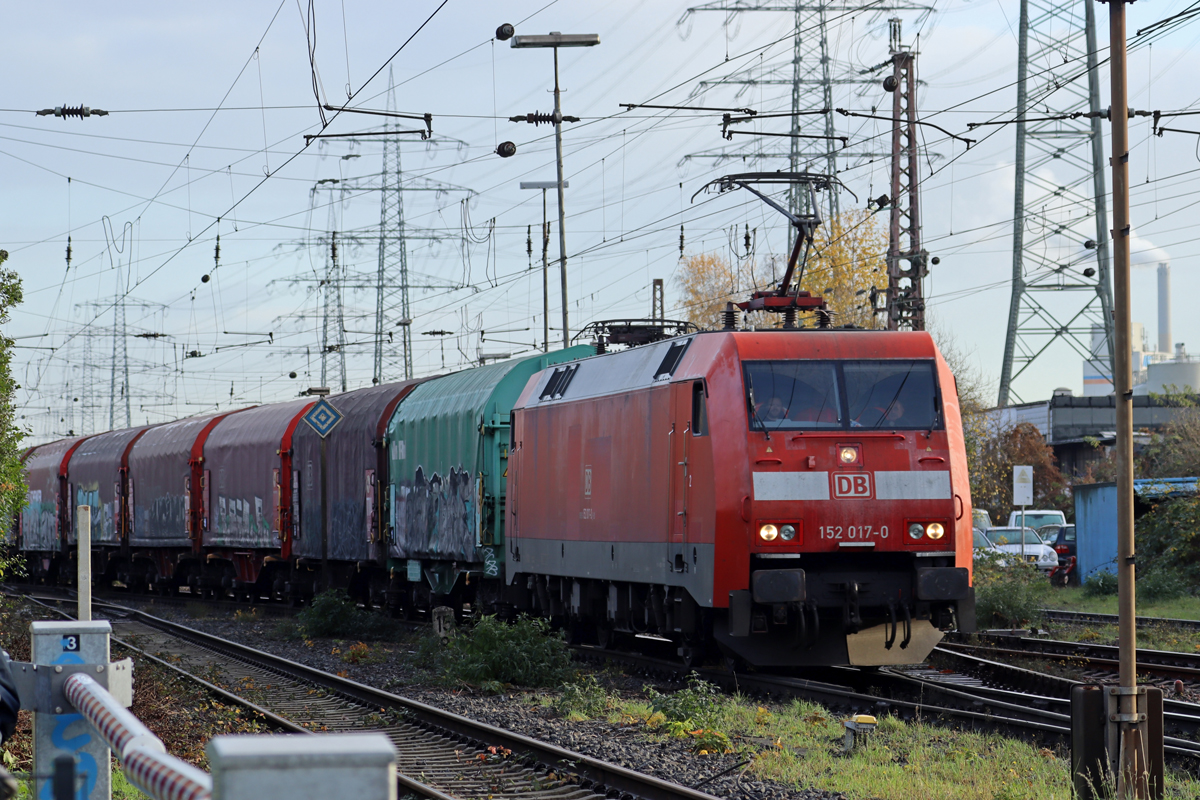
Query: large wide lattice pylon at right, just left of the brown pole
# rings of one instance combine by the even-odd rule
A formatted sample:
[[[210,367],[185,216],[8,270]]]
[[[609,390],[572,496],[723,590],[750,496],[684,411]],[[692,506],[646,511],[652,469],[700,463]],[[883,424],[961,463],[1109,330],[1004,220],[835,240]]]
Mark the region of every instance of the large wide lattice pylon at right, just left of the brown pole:
[[[1020,399],[1013,381],[1060,339],[1112,374],[1093,0],[1021,0],[1018,42],[1013,296],[1000,405]],[[1075,113],[1086,116],[1044,120]],[[1106,353],[1092,351],[1093,325],[1104,330]]]

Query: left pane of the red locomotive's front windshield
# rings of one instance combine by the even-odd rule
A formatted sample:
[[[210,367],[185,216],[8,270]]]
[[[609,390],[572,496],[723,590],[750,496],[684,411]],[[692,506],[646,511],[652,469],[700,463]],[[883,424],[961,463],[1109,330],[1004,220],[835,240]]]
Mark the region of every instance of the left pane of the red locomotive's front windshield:
[[[829,361],[746,362],[745,384],[752,429],[844,427],[838,372]]]

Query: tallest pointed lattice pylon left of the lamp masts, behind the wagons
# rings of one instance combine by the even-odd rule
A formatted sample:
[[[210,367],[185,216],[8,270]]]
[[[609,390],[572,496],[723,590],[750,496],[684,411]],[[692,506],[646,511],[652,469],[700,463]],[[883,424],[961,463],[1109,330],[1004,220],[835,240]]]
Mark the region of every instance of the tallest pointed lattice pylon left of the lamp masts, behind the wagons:
[[[388,71],[388,110],[396,112],[396,90]],[[385,125],[397,131],[395,120]],[[379,269],[376,275],[376,347],[372,383],[383,383],[384,294],[389,272],[400,278],[400,327],[404,359],[404,379],[413,377],[413,333],[409,309],[408,246],[404,235],[404,191],[401,186],[400,137],[383,138],[383,172],[379,175]],[[409,320],[409,321],[406,321]]]

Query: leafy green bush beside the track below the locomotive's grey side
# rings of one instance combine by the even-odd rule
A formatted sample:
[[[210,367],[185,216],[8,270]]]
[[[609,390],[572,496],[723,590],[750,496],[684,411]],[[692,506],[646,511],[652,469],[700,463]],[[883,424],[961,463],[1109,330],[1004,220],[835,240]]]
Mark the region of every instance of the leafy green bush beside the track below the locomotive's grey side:
[[[522,616],[502,622],[482,616],[443,644],[421,640],[420,657],[434,680],[498,692],[515,686],[559,686],[571,676],[571,652],[546,620]]]

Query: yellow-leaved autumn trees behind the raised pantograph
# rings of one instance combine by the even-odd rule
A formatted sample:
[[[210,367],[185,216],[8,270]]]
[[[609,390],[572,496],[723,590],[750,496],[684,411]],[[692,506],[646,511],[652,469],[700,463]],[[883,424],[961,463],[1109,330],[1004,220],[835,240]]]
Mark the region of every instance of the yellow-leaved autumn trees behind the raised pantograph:
[[[800,289],[826,299],[835,325],[876,327],[883,320],[872,313],[870,293],[887,287],[887,234],[874,213],[844,211],[817,229]],[[786,261],[775,257],[730,264],[715,253],[690,255],[676,276],[683,317],[700,327],[714,327],[726,302],[739,302],[751,291],[776,287],[785,269]],[[764,327],[782,323],[778,314],[762,317],[752,324]]]

